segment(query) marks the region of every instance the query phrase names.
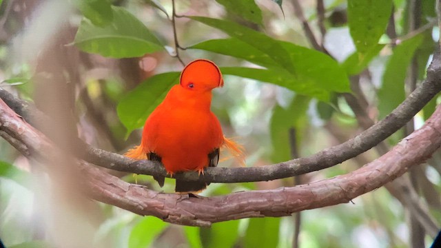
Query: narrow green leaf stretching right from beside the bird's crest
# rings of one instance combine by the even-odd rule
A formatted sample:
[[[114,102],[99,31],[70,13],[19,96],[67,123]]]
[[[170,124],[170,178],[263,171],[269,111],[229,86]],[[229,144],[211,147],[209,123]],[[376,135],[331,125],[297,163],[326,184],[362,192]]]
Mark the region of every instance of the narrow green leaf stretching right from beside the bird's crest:
[[[285,70],[234,67],[220,68],[220,71],[223,74],[242,76],[247,79],[255,79],[258,81],[273,83],[275,85],[287,87],[289,90],[294,90],[299,94],[316,97],[322,101],[329,101],[329,91],[322,89],[316,85],[314,81],[307,79],[302,81],[298,78],[294,78],[294,76]]]

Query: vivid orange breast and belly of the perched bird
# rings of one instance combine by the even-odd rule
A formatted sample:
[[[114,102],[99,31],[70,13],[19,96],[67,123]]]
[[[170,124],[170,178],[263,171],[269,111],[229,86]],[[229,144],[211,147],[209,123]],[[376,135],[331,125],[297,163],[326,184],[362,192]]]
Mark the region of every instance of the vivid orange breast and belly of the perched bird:
[[[220,123],[212,112],[185,107],[153,113],[145,123],[143,138],[147,149],[163,158],[169,172],[206,167],[208,154],[223,142]]]

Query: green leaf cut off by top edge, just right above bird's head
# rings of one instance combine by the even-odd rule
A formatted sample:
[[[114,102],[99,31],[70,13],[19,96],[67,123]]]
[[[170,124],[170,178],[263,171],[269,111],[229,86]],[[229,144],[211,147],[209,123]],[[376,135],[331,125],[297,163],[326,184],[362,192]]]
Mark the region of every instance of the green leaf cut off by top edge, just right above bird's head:
[[[247,21],[262,25],[262,10],[257,6],[254,0],[216,0],[222,4],[228,12],[232,12]]]

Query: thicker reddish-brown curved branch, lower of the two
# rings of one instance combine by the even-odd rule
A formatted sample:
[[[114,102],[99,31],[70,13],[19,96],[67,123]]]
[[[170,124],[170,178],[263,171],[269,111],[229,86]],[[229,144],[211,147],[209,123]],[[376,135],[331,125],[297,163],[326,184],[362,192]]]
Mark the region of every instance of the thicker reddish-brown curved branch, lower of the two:
[[[26,156],[41,161],[50,160],[58,151],[48,138],[25,123],[3,101],[0,101],[0,136]],[[376,161],[349,174],[296,187],[209,198],[154,192],[126,183],[85,161],[76,163],[83,172],[85,193],[96,200],[136,214],[156,216],[169,223],[209,226],[225,220],[289,216],[304,209],[348,203],[401,176],[412,165],[423,163],[440,145],[441,107],[438,107],[420,130],[404,138]]]

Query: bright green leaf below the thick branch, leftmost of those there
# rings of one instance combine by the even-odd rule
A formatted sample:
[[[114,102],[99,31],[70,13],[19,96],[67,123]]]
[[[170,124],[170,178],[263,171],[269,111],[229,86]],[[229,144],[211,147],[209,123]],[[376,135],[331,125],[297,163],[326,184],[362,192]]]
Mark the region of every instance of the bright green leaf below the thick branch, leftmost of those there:
[[[150,247],[167,226],[167,223],[156,217],[144,217],[130,232],[129,248]]]

